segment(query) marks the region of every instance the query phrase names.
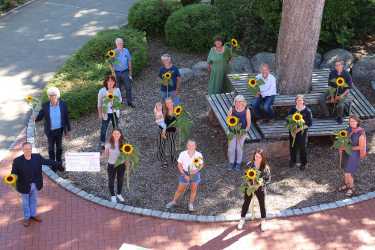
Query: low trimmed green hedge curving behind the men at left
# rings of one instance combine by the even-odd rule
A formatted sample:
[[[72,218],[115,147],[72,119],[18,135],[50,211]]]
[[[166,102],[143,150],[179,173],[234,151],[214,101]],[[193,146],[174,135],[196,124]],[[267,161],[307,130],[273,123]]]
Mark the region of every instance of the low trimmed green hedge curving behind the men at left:
[[[133,74],[138,74],[147,64],[146,34],[129,28],[102,31],[65,62],[46,86],[43,101],[47,100],[47,88],[56,86],[72,119],[96,110],[98,90],[104,77],[111,73],[105,55],[115,47],[117,37],[124,39],[125,47],[132,54]]]

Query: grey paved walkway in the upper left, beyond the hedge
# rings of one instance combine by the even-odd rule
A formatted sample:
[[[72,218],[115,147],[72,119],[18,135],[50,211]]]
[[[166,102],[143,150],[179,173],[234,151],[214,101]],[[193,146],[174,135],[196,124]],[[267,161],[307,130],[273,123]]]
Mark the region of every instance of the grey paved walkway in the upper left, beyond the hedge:
[[[0,18],[0,156],[24,128],[28,106],[97,31],[124,24],[134,0],[36,0]]]

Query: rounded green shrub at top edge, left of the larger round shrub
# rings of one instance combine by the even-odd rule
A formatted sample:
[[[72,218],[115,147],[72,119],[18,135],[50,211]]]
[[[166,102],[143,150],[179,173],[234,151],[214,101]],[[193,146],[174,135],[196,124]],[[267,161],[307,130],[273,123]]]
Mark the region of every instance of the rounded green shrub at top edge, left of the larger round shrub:
[[[130,8],[128,23],[148,34],[162,34],[168,17],[181,7],[178,0],[140,0]]]

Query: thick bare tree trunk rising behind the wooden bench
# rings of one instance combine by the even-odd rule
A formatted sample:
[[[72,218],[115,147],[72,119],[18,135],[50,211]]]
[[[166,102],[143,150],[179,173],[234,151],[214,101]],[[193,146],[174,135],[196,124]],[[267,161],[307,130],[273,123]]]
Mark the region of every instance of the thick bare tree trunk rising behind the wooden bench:
[[[310,89],[325,0],[284,0],[276,69],[282,94]]]

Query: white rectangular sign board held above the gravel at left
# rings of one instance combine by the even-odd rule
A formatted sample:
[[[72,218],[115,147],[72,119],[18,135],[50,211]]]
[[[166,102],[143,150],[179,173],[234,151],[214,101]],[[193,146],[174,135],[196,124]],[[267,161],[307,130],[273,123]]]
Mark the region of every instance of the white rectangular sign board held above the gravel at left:
[[[99,172],[100,171],[100,153],[99,152],[80,152],[65,153],[65,171],[75,172]]]

